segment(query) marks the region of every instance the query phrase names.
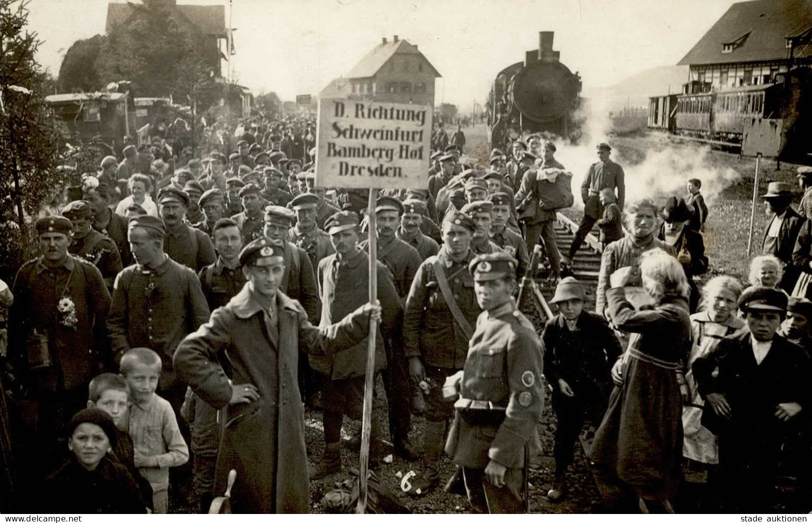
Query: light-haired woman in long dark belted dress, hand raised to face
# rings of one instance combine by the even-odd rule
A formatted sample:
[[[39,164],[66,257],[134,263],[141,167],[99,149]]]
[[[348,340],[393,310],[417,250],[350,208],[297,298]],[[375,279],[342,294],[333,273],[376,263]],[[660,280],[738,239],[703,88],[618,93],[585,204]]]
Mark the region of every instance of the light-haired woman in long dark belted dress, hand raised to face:
[[[631,337],[612,368],[615,389],[590,458],[633,491],[641,512],[666,513],[673,512],[682,475],[678,374],[690,348],[690,286],[680,262],[663,249],[642,253],[639,273],[654,305],[637,310],[626,300],[624,286],[636,277],[631,266],[611,274],[606,292],[611,322]]]

